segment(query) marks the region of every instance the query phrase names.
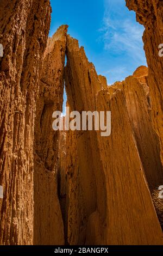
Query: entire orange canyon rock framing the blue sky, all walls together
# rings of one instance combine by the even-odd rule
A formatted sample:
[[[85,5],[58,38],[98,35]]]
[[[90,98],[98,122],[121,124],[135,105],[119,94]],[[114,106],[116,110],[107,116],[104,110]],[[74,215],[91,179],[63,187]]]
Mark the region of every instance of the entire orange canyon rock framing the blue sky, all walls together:
[[[1,245],[163,243],[162,5],[127,5],[146,27],[148,68],[108,87],[66,25],[48,39],[48,0],[1,0]],[[111,111],[110,136],[53,131],[64,83],[70,111]]]

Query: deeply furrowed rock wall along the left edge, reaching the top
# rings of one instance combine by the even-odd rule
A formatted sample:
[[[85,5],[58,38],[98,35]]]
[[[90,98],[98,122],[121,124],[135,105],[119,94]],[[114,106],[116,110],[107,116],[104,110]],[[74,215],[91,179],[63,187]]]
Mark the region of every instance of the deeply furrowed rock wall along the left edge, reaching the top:
[[[0,2],[1,245],[33,244],[34,120],[50,13],[45,0]]]

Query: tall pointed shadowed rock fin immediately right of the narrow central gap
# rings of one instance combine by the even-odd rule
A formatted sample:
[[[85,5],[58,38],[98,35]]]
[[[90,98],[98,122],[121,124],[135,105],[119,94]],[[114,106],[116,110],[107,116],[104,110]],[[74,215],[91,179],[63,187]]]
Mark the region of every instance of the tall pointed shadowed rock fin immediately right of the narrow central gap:
[[[89,68],[88,68],[89,66]],[[75,68],[74,68],[75,67]],[[84,75],[85,74],[85,75]],[[79,50],[78,41],[67,37],[66,92],[70,109],[80,113],[95,109],[95,92],[102,88],[93,64],[88,63],[83,47]],[[94,84],[91,89],[91,79]],[[96,83],[96,81],[98,81]],[[91,101],[90,101],[91,99]],[[86,104],[89,105],[86,105]],[[93,133],[95,135],[95,133]],[[92,135],[93,136],[93,135]],[[86,242],[86,225],[89,216],[95,212],[97,201],[106,197],[101,161],[96,161],[98,145],[90,141],[87,131],[69,132],[67,149],[68,212],[67,230],[70,244]],[[73,143],[72,143],[73,142]],[[72,147],[72,148],[71,148]],[[95,161],[93,161],[95,160]],[[95,173],[98,176],[98,188]],[[98,194],[97,194],[98,189]],[[103,200],[99,212],[104,219],[106,202]]]

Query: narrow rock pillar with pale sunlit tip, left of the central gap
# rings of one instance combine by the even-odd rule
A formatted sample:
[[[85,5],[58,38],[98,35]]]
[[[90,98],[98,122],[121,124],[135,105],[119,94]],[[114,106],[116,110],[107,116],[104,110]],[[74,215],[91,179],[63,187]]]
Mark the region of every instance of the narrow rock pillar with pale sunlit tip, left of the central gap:
[[[34,243],[64,244],[64,226],[57,190],[59,132],[52,129],[52,114],[62,111],[67,26],[48,39],[35,120]]]

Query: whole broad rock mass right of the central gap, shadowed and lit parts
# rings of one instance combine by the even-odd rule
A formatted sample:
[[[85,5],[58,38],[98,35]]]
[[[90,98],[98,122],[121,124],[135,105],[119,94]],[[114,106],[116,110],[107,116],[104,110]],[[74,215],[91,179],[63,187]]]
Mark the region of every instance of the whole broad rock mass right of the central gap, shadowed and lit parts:
[[[66,160],[68,242],[162,243],[162,231],[128,118],[123,90],[108,93],[108,89],[103,89],[105,83],[88,62],[83,47],[79,48],[77,40],[70,36],[67,36],[66,52],[68,105],[79,112],[110,110],[113,120],[110,137],[101,137],[99,131],[69,132],[71,145],[67,143]],[[92,155],[91,168],[87,168],[89,155]],[[75,220],[73,225],[72,220]]]

